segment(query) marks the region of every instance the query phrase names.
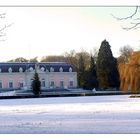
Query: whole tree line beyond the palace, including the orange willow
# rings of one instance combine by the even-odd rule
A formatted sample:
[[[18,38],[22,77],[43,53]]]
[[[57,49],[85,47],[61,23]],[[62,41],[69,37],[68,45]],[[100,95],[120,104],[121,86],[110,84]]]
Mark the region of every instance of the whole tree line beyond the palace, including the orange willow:
[[[41,61],[67,62],[73,65],[80,88],[140,91],[140,51],[132,52],[133,48],[125,46],[121,48],[120,57],[116,59],[108,41],[103,40],[99,50],[94,50],[92,54],[84,50],[78,53],[72,50],[63,56],[46,56]],[[27,60],[17,58],[11,61]],[[37,57],[32,61],[36,62]]]

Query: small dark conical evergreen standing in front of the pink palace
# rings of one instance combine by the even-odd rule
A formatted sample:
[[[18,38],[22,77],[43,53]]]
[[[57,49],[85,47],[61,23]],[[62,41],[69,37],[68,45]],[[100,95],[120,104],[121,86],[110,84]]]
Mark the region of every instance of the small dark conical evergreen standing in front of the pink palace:
[[[40,86],[41,86],[41,82],[39,80],[39,76],[38,76],[38,73],[35,71],[35,74],[33,76],[33,79],[32,79],[32,91],[33,93],[36,95],[36,96],[39,96],[40,95]]]

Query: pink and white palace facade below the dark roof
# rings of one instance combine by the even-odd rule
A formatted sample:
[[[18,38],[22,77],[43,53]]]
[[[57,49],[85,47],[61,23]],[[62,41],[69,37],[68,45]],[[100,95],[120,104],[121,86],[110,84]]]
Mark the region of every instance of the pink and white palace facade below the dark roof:
[[[41,63],[42,64],[42,63]],[[52,66],[53,67],[53,66]],[[11,68],[11,67],[10,67]],[[56,67],[58,69],[58,66]],[[12,68],[11,68],[12,69]],[[21,69],[21,67],[19,68]],[[30,68],[31,69],[31,68]],[[71,71],[63,71],[62,67],[60,71],[46,71],[42,67],[36,67],[30,71],[4,71],[0,72],[0,88],[1,89],[31,89],[31,82],[33,74],[35,72],[39,74],[41,81],[41,88],[76,88],[77,87],[77,73]],[[1,69],[0,69],[1,70]]]

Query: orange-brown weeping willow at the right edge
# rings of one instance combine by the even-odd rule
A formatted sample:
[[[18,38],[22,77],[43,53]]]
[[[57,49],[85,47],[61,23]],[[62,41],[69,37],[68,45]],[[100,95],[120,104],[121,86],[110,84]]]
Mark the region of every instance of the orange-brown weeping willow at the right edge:
[[[120,89],[140,91],[140,51],[133,52],[127,63],[119,63]]]

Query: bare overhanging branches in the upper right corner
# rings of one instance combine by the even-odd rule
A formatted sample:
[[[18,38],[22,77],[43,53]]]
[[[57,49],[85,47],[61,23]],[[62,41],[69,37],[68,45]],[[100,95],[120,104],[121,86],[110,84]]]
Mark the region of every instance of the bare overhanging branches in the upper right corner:
[[[126,17],[116,17],[113,14],[111,14],[116,20],[118,21],[128,21],[130,23],[130,26],[122,27],[124,30],[131,30],[131,29],[137,29],[140,28],[140,15],[139,14],[140,6],[135,6],[134,11],[132,14],[126,16]]]

